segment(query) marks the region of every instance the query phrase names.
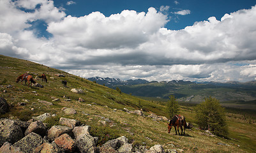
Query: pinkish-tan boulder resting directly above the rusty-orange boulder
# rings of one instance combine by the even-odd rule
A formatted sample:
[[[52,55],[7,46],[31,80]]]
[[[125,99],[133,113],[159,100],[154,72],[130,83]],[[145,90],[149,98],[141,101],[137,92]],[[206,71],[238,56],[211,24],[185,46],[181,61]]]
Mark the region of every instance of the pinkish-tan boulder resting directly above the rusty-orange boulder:
[[[52,126],[52,128],[48,131],[48,138],[51,141],[54,141],[55,138],[63,135],[64,133],[68,133],[71,135],[72,128],[69,128],[67,126]]]

